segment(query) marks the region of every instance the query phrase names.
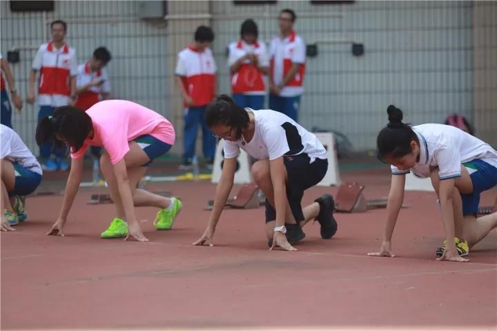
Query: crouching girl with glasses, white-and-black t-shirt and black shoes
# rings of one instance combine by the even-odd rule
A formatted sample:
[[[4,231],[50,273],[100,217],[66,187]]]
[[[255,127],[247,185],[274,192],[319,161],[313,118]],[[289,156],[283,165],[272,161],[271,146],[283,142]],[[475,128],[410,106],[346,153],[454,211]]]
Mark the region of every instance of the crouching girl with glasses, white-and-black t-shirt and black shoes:
[[[337,230],[333,198],[325,194],[303,209],[301,205],[304,190],[318,184],[328,169],[327,152],[314,134],[285,114],[241,108],[225,94],[207,106],[206,123],[224,141],[224,164],[207,228],[194,245],[213,245],[215,227],[233,187],[240,148],[257,159],[251,173],[266,195],[266,236],[271,250],[276,246],[295,250],[292,245],[304,239],[302,226],[311,219],[319,221],[323,239],[333,237]]]

